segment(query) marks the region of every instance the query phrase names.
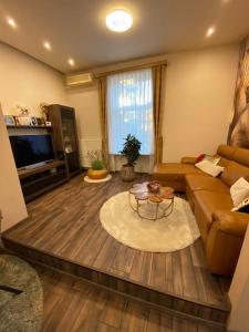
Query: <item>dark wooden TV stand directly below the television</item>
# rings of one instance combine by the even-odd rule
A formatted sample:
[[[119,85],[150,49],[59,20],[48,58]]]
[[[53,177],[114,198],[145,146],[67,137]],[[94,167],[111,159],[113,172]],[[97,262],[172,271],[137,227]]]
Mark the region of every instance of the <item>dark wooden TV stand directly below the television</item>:
[[[19,169],[18,175],[25,201],[37,198],[69,179],[64,160],[53,160],[35,168]]]

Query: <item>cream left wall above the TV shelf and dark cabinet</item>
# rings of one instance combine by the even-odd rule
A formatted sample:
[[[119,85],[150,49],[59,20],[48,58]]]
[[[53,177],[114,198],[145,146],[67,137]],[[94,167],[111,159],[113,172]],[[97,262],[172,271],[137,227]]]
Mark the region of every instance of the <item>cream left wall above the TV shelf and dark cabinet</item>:
[[[0,43],[0,102],[3,114],[17,115],[17,104],[41,116],[40,103],[65,104],[64,79],[40,61]]]

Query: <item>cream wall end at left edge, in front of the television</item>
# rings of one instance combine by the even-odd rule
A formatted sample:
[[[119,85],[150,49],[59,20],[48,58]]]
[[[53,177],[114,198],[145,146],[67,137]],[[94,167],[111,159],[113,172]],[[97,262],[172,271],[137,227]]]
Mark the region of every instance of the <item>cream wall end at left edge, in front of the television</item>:
[[[10,141],[3,122],[0,106],[0,210],[2,227],[6,230],[28,217],[22,190],[20,187]]]

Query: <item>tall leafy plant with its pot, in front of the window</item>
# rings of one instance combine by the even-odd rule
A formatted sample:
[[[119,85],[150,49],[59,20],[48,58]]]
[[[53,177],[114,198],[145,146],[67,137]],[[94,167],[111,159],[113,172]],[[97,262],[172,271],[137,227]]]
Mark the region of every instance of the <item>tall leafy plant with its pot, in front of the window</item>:
[[[141,156],[141,142],[128,134],[125,138],[123,149],[120,152],[127,159],[127,164],[122,166],[121,177],[124,181],[132,181],[135,178],[134,165]]]

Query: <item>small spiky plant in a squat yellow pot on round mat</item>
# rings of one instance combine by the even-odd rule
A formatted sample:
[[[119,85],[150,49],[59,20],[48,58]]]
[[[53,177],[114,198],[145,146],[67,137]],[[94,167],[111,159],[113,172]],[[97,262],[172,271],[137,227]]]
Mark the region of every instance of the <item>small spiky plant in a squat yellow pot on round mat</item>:
[[[91,179],[102,179],[107,176],[108,170],[105,168],[105,163],[103,162],[102,152],[100,149],[89,151],[86,158],[91,163],[91,168],[87,170],[87,176]]]

